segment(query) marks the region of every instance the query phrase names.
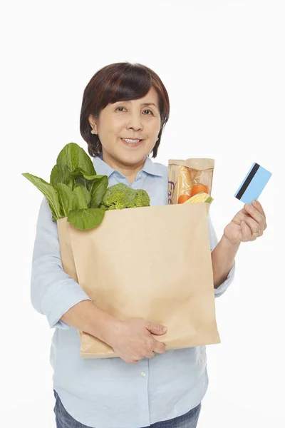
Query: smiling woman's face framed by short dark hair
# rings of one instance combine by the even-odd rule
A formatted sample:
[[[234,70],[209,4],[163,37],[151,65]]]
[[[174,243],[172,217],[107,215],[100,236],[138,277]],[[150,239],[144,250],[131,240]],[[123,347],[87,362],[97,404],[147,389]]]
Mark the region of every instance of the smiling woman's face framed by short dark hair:
[[[152,87],[138,100],[108,104],[98,119],[89,116],[89,123],[102,143],[104,161],[129,166],[145,161],[160,132],[158,103],[157,91]],[[132,143],[123,138],[141,141]]]

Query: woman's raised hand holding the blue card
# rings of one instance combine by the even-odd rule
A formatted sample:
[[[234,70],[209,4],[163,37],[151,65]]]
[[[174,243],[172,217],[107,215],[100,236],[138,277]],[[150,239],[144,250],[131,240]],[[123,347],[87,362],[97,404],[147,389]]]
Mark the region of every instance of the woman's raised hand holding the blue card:
[[[261,203],[257,200],[252,204],[244,205],[231,223],[224,228],[224,236],[235,245],[256,240],[263,235],[266,228],[266,215]]]

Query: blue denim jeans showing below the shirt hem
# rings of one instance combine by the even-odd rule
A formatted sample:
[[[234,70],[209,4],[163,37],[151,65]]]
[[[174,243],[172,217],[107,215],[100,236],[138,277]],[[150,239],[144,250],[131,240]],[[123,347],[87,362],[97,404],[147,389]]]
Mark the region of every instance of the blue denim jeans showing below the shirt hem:
[[[56,428],[90,428],[87,425],[77,422],[76,419],[66,412],[66,409],[63,407],[61,399],[58,397],[57,392],[53,389],[54,397],[56,398],[56,404],[53,408],[53,412],[56,414]],[[197,407],[190,410],[182,416],[175,417],[174,419],[169,419],[168,421],[156,422],[155,424],[150,425],[152,428],[196,428],[199,413],[201,410],[201,403]],[[144,427],[146,428],[146,427]],[[149,427],[147,427],[149,428]]]

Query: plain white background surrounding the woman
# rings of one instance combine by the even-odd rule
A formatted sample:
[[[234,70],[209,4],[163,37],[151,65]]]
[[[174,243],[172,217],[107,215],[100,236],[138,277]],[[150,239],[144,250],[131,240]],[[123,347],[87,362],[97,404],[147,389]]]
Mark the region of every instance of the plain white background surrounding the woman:
[[[4,12],[4,13],[3,13]],[[31,307],[30,272],[42,195],[79,132],[83,90],[99,68],[152,68],[170,96],[158,157],[214,158],[218,238],[242,203],[252,163],[273,174],[261,193],[268,228],[242,243],[216,300],[222,343],[208,347],[199,428],[285,426],[284,1],[9,1],[1,13],[1,426],[52,428],[53,330]],[[4,61],[3,61],[4,59]],[[4,168],[4,170],[3,170]],[[98,427],[100,428],[100,427]]]

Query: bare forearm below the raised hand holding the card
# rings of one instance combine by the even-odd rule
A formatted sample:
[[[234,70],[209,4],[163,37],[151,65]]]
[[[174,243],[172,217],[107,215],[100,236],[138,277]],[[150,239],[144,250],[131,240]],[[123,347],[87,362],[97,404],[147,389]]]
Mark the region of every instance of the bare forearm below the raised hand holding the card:
[[[222,235],[221,240],[212,251],[212,268],[214,275],[214,288],[219,287],[227,279],[229,271],[234,265],[240,244],[232,244]]]

